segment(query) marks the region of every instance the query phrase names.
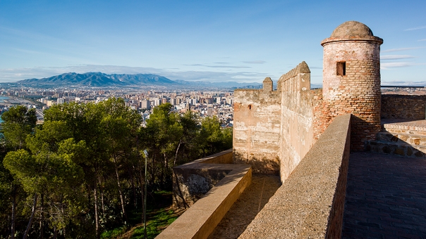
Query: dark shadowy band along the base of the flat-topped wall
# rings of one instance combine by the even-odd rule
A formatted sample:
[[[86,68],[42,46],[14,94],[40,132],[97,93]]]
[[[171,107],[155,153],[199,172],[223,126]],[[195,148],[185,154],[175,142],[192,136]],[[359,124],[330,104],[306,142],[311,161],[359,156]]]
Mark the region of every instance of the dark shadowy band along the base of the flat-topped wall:
[[[248,153],[245,153],[248,154]],[[278,155],[272,155],[264,153],[261,155],[245,155],[244,153],[238,153],[236,150],[233,151],[233,163],[234,164],[250,164],[252,167],[253,174],[279,174],[279,157]]]

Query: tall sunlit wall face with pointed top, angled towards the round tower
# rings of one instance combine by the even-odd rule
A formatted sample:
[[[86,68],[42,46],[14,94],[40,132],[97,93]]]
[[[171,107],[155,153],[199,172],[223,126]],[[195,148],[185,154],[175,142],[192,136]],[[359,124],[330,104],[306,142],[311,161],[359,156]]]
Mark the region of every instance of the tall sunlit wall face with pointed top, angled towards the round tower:
[[[305,62],[281,76],[281,138],[279,158],[281,181],[299,164],[314,140],[314,93],[310,90],[310,70]]]

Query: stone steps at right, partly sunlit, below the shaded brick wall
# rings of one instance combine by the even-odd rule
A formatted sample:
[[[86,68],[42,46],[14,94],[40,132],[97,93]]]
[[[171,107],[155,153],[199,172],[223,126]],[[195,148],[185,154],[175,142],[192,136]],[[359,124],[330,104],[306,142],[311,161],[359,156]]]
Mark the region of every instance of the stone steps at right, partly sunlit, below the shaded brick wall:
[[[382,120],[382,131],[376,140],[365,142],[365,150],[426,158],[426,120]]]

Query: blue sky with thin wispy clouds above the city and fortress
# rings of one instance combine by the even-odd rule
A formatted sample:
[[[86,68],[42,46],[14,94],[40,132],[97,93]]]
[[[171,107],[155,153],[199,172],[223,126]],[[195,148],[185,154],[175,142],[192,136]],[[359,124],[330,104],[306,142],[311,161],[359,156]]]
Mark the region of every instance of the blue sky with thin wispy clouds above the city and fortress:
[[[347,20],[382,45],[382,84],[426,84],[426,1],[0,0],[0,82],[65,72],[274,82]]]

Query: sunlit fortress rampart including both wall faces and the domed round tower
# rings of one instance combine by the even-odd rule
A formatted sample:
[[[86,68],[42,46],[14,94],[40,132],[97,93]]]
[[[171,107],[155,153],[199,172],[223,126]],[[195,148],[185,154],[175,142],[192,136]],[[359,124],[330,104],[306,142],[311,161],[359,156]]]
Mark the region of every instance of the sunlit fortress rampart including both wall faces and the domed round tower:
[[[380,45],[369,27],[349,21],[321,42],[323,88],[310,89],[310,70],[300,63],[282,75],[273,91],[234,93],[234,162],[251,164],[253,172],[277,172],[284,181],[329,124],[351,114],[351,150],[380,131]]]

